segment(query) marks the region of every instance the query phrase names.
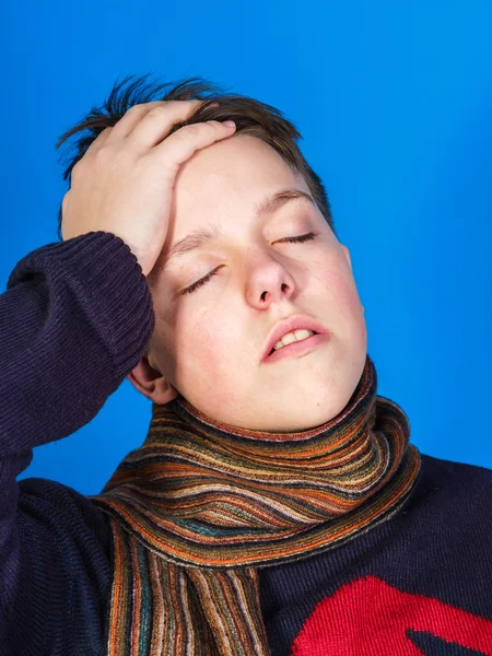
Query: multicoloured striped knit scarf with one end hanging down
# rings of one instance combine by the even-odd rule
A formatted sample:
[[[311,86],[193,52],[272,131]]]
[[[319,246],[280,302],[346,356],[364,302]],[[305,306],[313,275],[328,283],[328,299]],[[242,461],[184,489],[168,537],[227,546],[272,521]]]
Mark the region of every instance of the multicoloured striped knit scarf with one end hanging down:
[[[90,499],[110,515],[108,656],[267,656],[258,569],[391,517],[420,470],[405,412],[376,397],[367,355],[335,419],[271,433],[222,424],[183,397],[153,406],[141,447]]]

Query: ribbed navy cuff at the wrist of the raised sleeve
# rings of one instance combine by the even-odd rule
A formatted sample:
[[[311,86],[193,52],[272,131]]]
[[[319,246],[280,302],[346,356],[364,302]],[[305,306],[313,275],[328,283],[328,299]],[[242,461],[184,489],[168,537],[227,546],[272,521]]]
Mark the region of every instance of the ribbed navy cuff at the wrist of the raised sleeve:
[[[118,382],[138,364],[155,326],[147,278],[124,239],[109,232],[90,232],[42,246],[25,256],[9,277],[8,288],[23,271],[55,272],[69,284],[85,316],[109,351]]]

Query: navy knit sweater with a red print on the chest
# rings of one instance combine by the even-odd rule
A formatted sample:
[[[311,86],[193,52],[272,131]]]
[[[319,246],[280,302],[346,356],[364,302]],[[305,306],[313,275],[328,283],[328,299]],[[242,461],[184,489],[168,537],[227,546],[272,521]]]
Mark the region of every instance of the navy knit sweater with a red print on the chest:
[[[0,295],[0,654],[103,656],[108,517],[32,449],[93,419],[145,351],[152,297],[119,237],[43,246]],[[405,506],[344,546],[260,570],[272,656],[492,655],[492,471],[422,455]]]

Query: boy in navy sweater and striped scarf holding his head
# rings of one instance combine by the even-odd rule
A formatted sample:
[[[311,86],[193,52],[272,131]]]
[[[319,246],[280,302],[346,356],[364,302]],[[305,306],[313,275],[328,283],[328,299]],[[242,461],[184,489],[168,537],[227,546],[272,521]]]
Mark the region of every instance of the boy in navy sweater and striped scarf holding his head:
[[[492,473],[376,397],[296,130],[206,91],[65,136],[63,243],[0,297],[2,653],[492,654]],[[101,494],[15,482],[126,376],[152,421]]]

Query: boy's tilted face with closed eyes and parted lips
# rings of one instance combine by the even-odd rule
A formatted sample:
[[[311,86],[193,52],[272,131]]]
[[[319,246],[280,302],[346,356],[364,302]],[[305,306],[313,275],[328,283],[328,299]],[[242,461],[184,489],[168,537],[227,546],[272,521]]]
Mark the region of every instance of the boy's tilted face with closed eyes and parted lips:
[[[155,330],[129,376],[154,402],[181,395],[220,422],[277,432],[317,426],[348,403],[367,350],[349,250],[307,200],[255,216],[257,204],[285,189],[309,194],[274,149],[241,133],[180,167],[157,276],[149,280]],[[206,226],[222,236],[163,268],[177,242]],[[315,239],[281,241],[309,232]],[[180,293],[216,267],[203,285]],[[262,361],[272,328],[294,314],[320,323],[328,339]]]

